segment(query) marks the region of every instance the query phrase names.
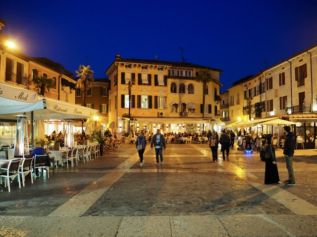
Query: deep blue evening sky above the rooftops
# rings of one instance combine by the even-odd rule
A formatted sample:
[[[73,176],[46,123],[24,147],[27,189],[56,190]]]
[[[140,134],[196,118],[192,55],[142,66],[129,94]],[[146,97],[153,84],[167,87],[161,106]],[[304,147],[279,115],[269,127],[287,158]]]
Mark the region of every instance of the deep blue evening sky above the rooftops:
[[[315,0],[2,0],[3,33],[31,57],[95,78],[116,54],[221,69],[221,92],[317,43]],[[88,58],[86,58],[86,57]]]

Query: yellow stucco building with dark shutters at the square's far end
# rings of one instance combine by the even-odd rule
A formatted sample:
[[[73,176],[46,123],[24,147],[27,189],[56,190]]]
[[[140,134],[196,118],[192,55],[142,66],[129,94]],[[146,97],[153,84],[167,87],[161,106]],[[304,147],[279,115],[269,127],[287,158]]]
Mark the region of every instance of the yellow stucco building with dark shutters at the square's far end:
[[[199,69],[208,68],[212,81],[206,90],[203,119],[203,84],[196,81]],[[109,77],[109,124],[119,132],[146,129],[183,132],[212,129],[220,125],[219,75],[222,70],[187,62],[122,59],[106,70]],[[131,89],[130,129],[129,81]],[[132,122],[133,120],[133,122]],[[212,123],[209,125],[209,123]],[[208,127],[206,127],[208,126]]]

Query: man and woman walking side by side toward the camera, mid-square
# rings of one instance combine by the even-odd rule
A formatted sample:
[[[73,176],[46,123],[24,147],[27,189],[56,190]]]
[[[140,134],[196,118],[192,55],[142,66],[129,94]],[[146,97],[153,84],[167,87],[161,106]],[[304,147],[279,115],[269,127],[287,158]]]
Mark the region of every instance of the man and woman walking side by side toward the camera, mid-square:
[[[145,151],[145,148],[147,146],[147,138],[144,136],[144,132],[140,132],[140,136],[138,136],[137,141],[135,143],[136,148],[138,149],[139,157],[140,157],[140,164],[139,166],[142,166],[144,164],[143,159],[143,153]],[[159,166],[159,158],[160,158],[160,165],[163,165],[163,154],[162,150],[166,149],[166,142],[163,135],[160,134],[160,130],[157,130],[157,134],[153,136],[152,142],[151,142],[151,149],[155,147],[155,154],[157,159],[156,166]]]

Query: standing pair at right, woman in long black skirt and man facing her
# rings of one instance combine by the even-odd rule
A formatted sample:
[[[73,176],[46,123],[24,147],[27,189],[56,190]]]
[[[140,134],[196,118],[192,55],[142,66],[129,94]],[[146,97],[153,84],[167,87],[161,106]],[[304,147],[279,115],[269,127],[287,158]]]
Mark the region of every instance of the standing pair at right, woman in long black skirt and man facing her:
[[[294,156],[294,133],[290,131],[289,126],[284,127],[285,131],[285,141],[284,141],[284,151],[286,168],[288,171],[288,180],[284,183],[288,186],[295,185],[294,170],[293,170],[293,156]],[[264,184],[281,184],[278,176],[278,170],[275,158],[275,149],[272,146],[272,135],[268,134],[265,137],[265,175]]]

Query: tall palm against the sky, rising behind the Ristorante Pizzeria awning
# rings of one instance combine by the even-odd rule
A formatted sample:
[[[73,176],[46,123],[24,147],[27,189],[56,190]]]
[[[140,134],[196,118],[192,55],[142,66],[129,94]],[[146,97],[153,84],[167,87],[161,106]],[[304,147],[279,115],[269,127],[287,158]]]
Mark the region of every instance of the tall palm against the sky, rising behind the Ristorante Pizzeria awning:
[[[93,76],[95,73],[90,69],[90,65],[88,65],[87,67],[85,67],[84,65],[80,65],[76,73],[76,77],[79,77],[79,79],[77,80],[75,88],[79,88],[83,92],[83,102],[84,106],[86,106],[87,90],[90,86],[93,85],[92,81],[94,81]]]

